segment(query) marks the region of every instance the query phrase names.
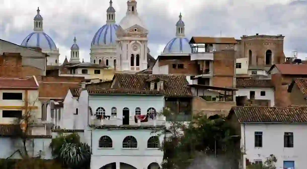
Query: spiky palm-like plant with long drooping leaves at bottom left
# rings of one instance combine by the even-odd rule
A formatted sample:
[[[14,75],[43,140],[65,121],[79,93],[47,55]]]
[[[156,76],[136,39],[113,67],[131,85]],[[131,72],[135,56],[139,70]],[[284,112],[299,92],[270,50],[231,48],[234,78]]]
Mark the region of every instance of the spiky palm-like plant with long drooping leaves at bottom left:
[[[86,143],[65,142],[60,149],[60,158],[67,166],[81,166],[91,159],[90,147]]]

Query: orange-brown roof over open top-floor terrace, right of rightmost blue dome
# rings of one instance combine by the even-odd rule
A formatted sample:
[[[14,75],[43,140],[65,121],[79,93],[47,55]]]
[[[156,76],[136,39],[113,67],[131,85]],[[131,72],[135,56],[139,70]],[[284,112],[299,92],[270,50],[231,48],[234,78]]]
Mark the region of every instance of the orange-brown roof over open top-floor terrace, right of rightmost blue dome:
[[[209,44],[236,44],[234,37],[192,37],[190,43],[209,43]]]

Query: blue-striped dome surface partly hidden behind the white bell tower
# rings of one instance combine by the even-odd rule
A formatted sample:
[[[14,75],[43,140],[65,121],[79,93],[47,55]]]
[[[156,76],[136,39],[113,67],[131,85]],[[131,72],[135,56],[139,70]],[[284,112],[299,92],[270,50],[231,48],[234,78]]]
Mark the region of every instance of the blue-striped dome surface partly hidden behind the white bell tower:
[[[115,44],[117,24],[106,24],[95,33],[91,45],[111,45]]]

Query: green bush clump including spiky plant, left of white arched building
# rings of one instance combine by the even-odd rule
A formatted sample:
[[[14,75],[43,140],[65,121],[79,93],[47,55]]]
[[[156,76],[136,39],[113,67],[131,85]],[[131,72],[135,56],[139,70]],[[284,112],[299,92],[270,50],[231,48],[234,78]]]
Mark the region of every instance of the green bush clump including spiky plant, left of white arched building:
[[[50,146],[52,155],[64,166],[70,168],[86,168],[91,160],[90,147],[80,142],[80,136],[76,133],[67,136],[57,136],[52,139]]]

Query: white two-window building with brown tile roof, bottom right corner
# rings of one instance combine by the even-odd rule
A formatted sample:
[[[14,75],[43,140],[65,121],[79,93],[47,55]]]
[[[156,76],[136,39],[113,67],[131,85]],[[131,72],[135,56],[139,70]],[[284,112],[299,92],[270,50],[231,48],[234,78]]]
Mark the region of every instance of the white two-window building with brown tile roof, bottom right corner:
[[[234,107],[230,115],[240,126],[243,169],[271,154],[276,168],[305,168],[307,108]]]

